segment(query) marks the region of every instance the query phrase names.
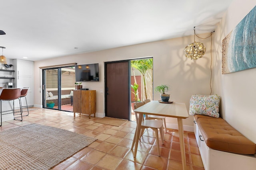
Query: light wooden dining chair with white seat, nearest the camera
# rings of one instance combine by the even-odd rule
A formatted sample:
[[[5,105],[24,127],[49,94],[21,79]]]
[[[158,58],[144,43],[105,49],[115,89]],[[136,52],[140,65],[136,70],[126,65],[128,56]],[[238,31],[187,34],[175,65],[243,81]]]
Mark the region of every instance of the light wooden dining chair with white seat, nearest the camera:
[[[134,109],[137,109],[140,106],[143,106],[144,103],[136,103],[134,104]],[[137,121],[137,128],[138,128],[138,113],[135,111],[135,117]],[[160,137],[162,144],[164,144],[164,133],[163,133],[163,121],[162,120],[142,120],[141,127],[140,127],[140,137],[143,135],[144,130],[146,128],[151,128],[156,133],[156,143],[157,143],[157,149],[158,149],[158,156],[160,156],[160,145],[159,145],[159,138],[158,138],[158,129],[160,131]],[[136,135],[134,135],[134,140],[132,142],[132,148],[134,147]]]

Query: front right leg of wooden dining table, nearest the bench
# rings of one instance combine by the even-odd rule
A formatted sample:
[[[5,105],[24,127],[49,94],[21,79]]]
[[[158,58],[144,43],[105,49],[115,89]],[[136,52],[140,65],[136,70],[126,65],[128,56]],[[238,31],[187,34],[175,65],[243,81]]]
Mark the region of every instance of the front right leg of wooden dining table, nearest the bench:
[[[181,159],[182,159],[182,168],[186,170],[186,154],[185,154],[185,144],[184,144],[184,135],[183,135],[183,123],[182,118],[178,119],[178,129],[180,136],[180,151],[181,151]]]

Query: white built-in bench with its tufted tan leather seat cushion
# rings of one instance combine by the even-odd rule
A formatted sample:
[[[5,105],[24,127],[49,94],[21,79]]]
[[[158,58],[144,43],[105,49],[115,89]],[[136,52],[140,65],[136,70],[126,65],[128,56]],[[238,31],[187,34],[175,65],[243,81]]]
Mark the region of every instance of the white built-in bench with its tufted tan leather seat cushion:
[[[194,115],[194,123],[205,170],[255,170],[255,143],[224,119]]]

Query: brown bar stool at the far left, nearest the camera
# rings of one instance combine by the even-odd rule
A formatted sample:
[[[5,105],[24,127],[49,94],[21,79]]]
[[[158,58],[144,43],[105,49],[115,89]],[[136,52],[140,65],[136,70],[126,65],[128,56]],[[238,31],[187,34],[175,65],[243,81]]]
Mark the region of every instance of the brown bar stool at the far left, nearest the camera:
[[[13,100],[13,109],[9,110],[9,111],[12,111],[14,120],[22,121],[22,108],[21,108],[21,104],[20,104],[20,114],[14,114],[14,100],[16,100],[16,99],[19,100],[19,104],[20,104],[20,88],[3,89],[2,90],[2,93],[0,95],[0,107],[1,107],[1,109],[0,109],[0,112],[1,112],[1,125],[0,126],[2,126],[2,115],[10,114],[10,113],[2,114],[2,112],[6,112],[6,111],[2,111],[2,101],[11,101],[11,100]],[[16,116],[16,115],[20,115],[20,116]],[[20,117],[20,119],[17,119],[18,117]]]

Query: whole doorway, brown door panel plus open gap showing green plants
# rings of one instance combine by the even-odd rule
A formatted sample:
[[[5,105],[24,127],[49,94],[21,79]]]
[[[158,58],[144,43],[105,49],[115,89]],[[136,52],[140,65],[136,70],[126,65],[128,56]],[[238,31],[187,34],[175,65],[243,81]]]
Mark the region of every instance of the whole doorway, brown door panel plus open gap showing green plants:
[[[134,82],[138,84],[136,92]],[[105,63],[107,117],[135,121],[132,104],[145,99],[153,100],[153,57]]]

